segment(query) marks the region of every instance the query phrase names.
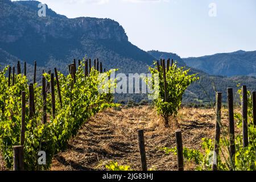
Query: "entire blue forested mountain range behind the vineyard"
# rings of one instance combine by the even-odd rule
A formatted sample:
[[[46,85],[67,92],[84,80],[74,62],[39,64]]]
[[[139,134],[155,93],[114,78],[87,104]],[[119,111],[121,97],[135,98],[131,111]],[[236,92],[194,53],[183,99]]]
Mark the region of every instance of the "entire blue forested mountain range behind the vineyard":
[[[207,56],[200,59],[181,59],[175,53],[146,52],[130,43],[123,27],[114,20],[88,17],[69,19],[55,13],[48,6],[46,6],[46,17],[39,17],[39,3],[38,1],[0,0],[1,69],[8,64],[16,65],[18,60],[21,60],[23,65],[23,61],[26,60],[27,75],[32,80],[33,64],[36,60],[37,81],[40,83],[43,69],[48,71],[57,67],[65,74],[68,73],[67,65],[72,63],[74,58],[81,59],[84,56],[92,59],[98,57],[106,69],[119,68],[123,73],[145,73],[148,71],[147,65],[151,65],[153,60],[170,58],[176,60],[179,66],[187,64],[187,68],[192,67],[191,73],[199,73],[200,76],[200,80],[186,90],[183,103],[203,104],[214,101],[216,91],[223,92],[223,102],[225,102],[226,88],[237,88],[238,83],[246,84],[248,90],[256,90],[256,79],[251,76],[210,76],[213,75],[211,72],[213,66],[216,67],[215,69],[218,66],[219,72],[229,70],[244,73],[244,75],[253,74],[254,71],[247,74],[246,70],[249,70],[247,67],[254,68],[255,59],[253,60],[251,55],[255,57],[255,52],[220,53],[213,55],[216,57],[209,59],[210,61],[205,59]],[[230,57],[236,57],[236,59],[230,59]],[[221,63],[221,60],[226,61]],[[236,62],[239,64],[233,64],[234,60],[240,60]],[[247,65],[246,62],[250,64]],[[230,65],[229,69],[224,69],[226,65]],[[242,69],[241,72],[240,69]],[[216,74],[221,75],[218,74],[219,72]],[[115,101],[139,102],[143,99],[147,99],[146,94],[115,94]]]

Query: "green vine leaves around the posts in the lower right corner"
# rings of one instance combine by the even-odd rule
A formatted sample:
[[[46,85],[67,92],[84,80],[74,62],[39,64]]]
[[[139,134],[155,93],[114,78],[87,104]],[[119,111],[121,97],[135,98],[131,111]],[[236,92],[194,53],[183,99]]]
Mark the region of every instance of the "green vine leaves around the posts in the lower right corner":
[[[240,86],[240,85],[238,85]],[[241,89],[238,89],[238,94],[242,99]],[[252,118],[252,102],[251,94],[247,92],[248,95],[248,136],[249,145],[243,147],[243,136],[242,133],[236,133],[235,137],[235,148],[236,155],[234,161],[230,158],[229,154],[229,141],[228,137],[225,135],[225,128],[221,125],[222,136],[219,143],[219,154],[218,160],[218,170],[236,170],[236,171],[255,171],[256,170],[256,127],[253,124]],[[237,121],[237,127],[242,130],[242,115],[240,113],[235,113],[234,117]],[[204,152],[197,150],[190,150],[184,148],[183,154],[184,158],[187,160],[193,160],[196,164],[197,170],[211,170],[212,169],[212,158],[213,158],[213,141],[212,139],[203,139],[202,148]],[[176,148],[163,148],[166,154],[170,152],[176,154]]]

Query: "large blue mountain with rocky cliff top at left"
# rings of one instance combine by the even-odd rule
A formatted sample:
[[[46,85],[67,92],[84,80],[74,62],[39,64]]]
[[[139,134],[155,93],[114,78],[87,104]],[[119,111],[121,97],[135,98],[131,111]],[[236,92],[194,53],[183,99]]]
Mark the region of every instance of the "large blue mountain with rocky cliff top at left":
[[[50,67],[73,58],[98,57],[105,68],[144,72],[154,57],[131,44],[123,27],[111,19],[73,18],[46,7],[38,16],[38,1],[0,1],[0,48],[27,63]],[[2,60],[0,62],[3,62]],[[8,63],[7,63],[8,64]],[[136,67],[132,67],[137,65]]]

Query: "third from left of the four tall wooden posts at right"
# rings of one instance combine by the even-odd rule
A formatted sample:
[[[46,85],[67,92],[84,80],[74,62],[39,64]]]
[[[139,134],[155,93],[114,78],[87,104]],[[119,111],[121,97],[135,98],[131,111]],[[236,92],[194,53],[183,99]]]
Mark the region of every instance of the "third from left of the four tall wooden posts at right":
[[[243,126],[243,147],[247,147],[248,141],[248,126],[247,126],[247,88],[245,85],[242,86],[242,126]]]

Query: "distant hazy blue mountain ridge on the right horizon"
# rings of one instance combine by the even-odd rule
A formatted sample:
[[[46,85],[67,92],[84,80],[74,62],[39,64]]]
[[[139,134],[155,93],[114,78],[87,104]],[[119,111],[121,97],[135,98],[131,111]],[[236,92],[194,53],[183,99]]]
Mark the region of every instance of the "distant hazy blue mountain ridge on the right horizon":
[[[201,69],[210,75],[256,76],[256,51],[217,53],[210,56],[183,58],[192,68]]]

